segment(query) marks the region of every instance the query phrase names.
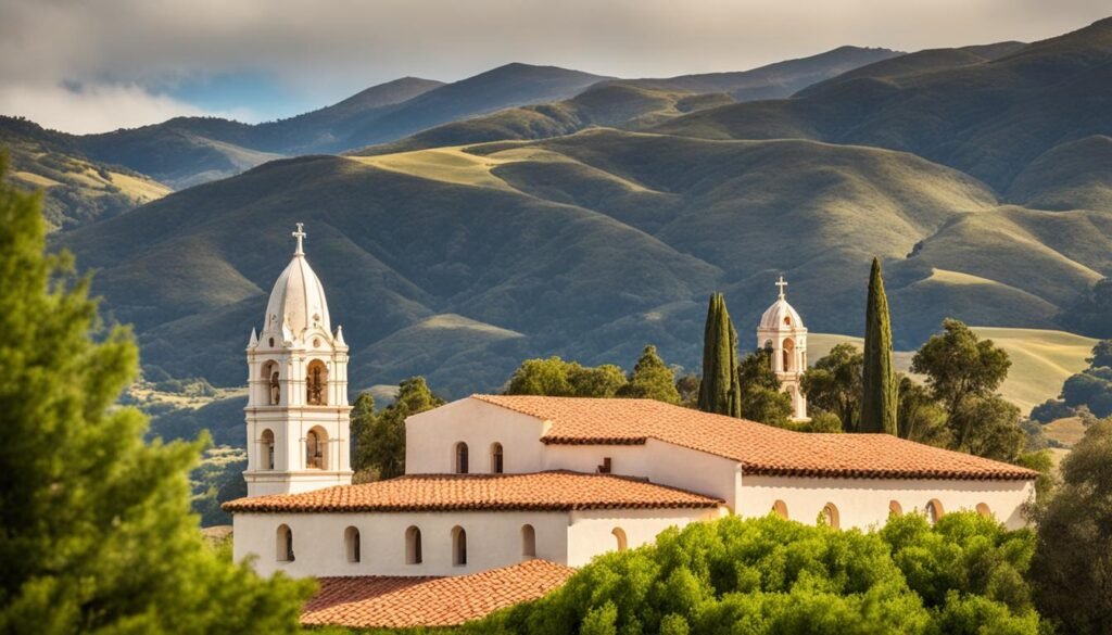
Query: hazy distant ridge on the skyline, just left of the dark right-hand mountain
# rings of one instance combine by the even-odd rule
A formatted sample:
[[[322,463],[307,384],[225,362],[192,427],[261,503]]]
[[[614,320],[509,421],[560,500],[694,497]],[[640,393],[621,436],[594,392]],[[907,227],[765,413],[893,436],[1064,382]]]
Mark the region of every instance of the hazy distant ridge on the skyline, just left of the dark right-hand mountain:
[[[683,75],[667,79],[623,79],[615,83],[652,90],[725,92],[737,101],[777,99],[855,68],[903,54],[890,49],[838,47],[745,71]]]

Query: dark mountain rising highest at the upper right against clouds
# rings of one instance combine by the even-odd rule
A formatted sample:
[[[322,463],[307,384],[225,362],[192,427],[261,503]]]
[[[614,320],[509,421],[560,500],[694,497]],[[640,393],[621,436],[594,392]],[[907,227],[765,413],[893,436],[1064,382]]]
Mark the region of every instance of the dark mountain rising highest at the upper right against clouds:
[[[906,62],[897,58],[792,99],[704,110],[654,130],[904,150],[1006,191],[1055,146],[1112,132],[1112,18],[1011,52],[1006,48],[983,61],[975,51],[951,51],[961,58],[959,66],[932,62],[926,70],[900,68]]]

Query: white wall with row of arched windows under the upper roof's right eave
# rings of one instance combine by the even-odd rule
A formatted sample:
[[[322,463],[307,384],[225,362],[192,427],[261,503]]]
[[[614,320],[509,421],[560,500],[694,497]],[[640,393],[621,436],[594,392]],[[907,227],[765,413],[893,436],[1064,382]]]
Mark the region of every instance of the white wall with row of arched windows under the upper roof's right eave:
[[[1024,525],[1020,507],[1033,496],[1029,480],[916,480],[880,478],[798,478],[784,476],[744,476],[742,516],[764,516],[776,500],[787,505],[792,520],[813,524],[827,503],[838,510],[842,528],[881,526],[888,517],[892,500],[905,514],[925,513],[931,499],[942,503],[943,513],[973,510],[989,506],[993,516],[1009,528]]]

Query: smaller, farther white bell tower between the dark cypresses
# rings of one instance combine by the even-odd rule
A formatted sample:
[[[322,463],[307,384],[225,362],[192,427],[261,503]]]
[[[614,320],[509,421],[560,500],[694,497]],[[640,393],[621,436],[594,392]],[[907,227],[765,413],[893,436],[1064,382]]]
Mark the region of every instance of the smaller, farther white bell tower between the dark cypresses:
[[[800,314],[787,304],[781,276],[776,280],[780,298],[761,316],[757,327],[757,348],[772,349],[772,369],[780,378],[784,391],[792,396],[792,418],[807,418],[807,398],[801,389],[803,373],[807,369],[807,329]]]

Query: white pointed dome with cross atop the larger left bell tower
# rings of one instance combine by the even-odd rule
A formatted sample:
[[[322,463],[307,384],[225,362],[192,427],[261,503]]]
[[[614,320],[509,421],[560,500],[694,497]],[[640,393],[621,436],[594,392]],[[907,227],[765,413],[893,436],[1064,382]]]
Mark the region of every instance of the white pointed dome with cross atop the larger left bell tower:
[[[306,234],[302,224],[297,224],[297,251],[286,269],[278,276],[270,301],[267,302],[266,324],[264,333],[280,333],[284,340],[300,339],[309,329],[320,329],[331,334],[331,323],[328,318],[328,301],[325,299],[325,287],[312,271],[305,258],[301,239]]]

